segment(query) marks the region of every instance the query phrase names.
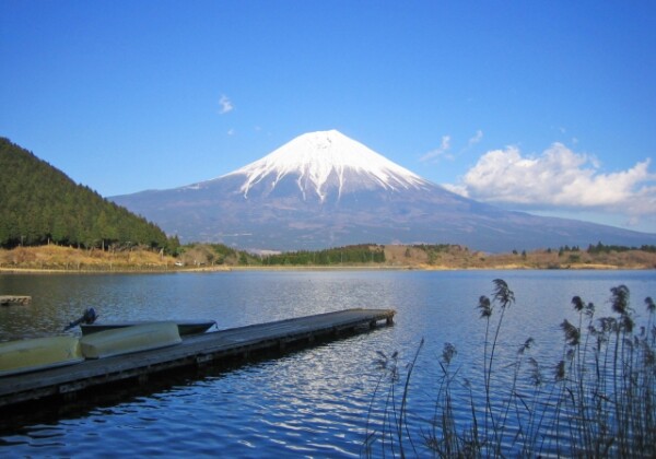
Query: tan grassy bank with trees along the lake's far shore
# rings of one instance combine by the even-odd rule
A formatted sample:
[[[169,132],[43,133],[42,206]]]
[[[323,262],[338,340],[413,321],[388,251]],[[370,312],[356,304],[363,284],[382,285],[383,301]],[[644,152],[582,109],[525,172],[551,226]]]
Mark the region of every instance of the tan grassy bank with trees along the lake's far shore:
[[[323,252],[257,256],[216,245],[189,245],[177,258],[143,248],[124,250],[78,249],[57,245],[0,249],[0,271],[216,271],[229,269],[655,269],[656,252],[640,249],[543,249],[509,254],[484,254],[458,245],[356,246],[371,250],[372,261],[349,261],[353,247],[329,250],[332,257],[314,263]],[[364,249],[363,249],[364,247]],[[343,250],[343,255],[342,255]],[[375,258],[374,258],[375,255]],[[317,260],[319,258],[317,257]],[[367,259],[365,254],[364,259]],[[300,261],[303,260],[303,261]],[[273,262],[276,261],[276,263]]]

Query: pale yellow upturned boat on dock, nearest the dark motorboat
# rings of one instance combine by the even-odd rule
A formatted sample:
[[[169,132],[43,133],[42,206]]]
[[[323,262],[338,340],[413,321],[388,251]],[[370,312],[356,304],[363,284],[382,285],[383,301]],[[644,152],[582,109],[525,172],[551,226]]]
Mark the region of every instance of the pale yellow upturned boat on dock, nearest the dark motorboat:
[[[86,358],[103,358],[165,348],[181,341],[175,322],[152,322],[84,336],[80,339],[80,349]]]

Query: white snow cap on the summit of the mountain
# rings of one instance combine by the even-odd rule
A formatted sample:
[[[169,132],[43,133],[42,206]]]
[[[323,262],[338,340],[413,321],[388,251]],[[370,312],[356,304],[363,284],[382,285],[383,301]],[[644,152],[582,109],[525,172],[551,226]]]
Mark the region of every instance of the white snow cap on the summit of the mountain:
[[[332,190],[339,199],[344,189],[354,187],[394,191],[429,184],[337,130],[302,134],[223,177],[238,175],[245,176],[241,187],[245,197],[257,185],[266,185],[270,191],[283,178],[292,178],[304,198],[316,193],[321,201]]]

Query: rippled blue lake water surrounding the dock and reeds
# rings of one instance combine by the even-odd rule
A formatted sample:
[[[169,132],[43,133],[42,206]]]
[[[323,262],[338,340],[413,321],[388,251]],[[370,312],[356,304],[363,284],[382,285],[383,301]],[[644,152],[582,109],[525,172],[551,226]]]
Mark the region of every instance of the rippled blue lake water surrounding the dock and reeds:
[[[0,341],[58,333],[87,307],[107,321],[198,318],[216,320],[220,328],[352,307],[397,310],[394,327],[202,376],[154,380],[139,391],[82,401],[38,419],[4,420],[0,455],[358,457],[366,433],[384,431],[380,397],[388,393],[387,379],[368,414],[383,375],[375,364],[378,352],[398,352],[405,370],[422,338],[408,415],[417,454],[427,455],[421,432],[434,413],[443,345],[456,346],[453,365],[462,378],[480,386],[484,321],[476,306],[480,295],[492,295],[497,278],[508,283],[516,298],[497,349],[502,377],[504,364],[529,337],[536,341],[536,358],[558,362],[559,325],[575,317],[572,296],[608,313],[610,289],[625,284],[636,314],[644,315],[644,298],[656,294],[656,271],[0,275],[0,294],[33,297],[28,306],[0,308]],[[402,385],[396,390],[400,400]],[[373,455],[383,456],[380,446]]]

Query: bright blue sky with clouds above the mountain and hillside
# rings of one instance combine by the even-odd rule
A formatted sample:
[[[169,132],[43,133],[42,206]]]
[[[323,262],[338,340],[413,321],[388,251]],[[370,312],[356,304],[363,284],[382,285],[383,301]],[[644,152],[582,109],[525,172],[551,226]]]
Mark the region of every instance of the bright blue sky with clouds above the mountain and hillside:
[[[103,196],[338,129],[507,209],[656,233],[654,1],[0,1],[0,136]]]

